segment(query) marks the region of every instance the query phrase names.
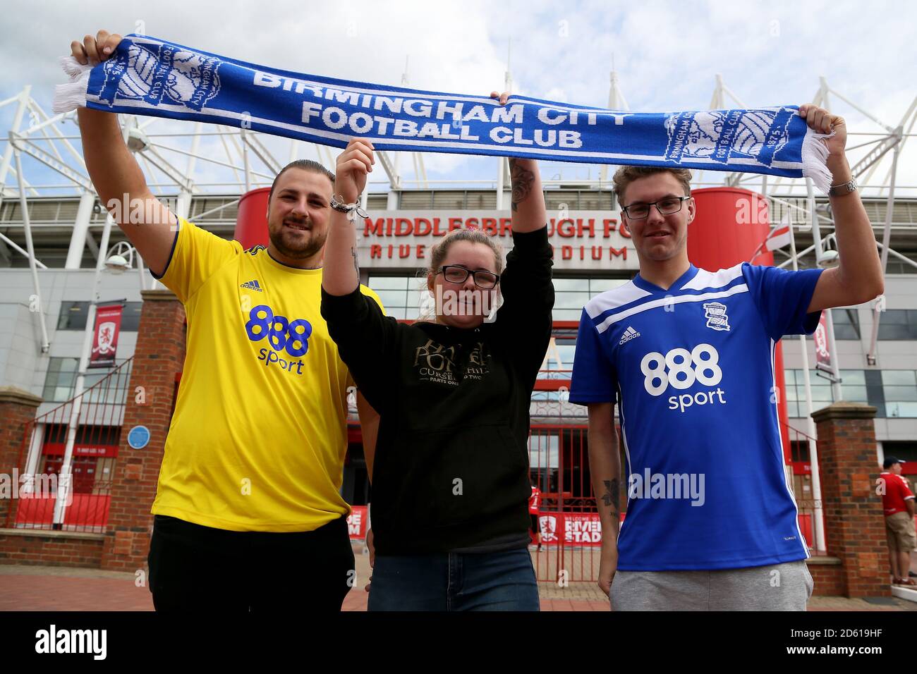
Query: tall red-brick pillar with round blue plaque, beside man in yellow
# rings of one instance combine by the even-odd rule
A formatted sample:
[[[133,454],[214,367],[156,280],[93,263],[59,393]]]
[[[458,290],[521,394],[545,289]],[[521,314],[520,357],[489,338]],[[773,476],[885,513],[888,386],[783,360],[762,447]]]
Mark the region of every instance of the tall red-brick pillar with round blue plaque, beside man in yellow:
[[[146,290],[140,294],[143,310],[102,552],[101,568],[110,570],[146,568],[153,524],[149,508],[156,497],[169,432],[175,375],[182,371],[184,363],[182,303],[171,290]],[[149,444],[142,449],[127,444],[130,429],[137,425],[149,428]]]

